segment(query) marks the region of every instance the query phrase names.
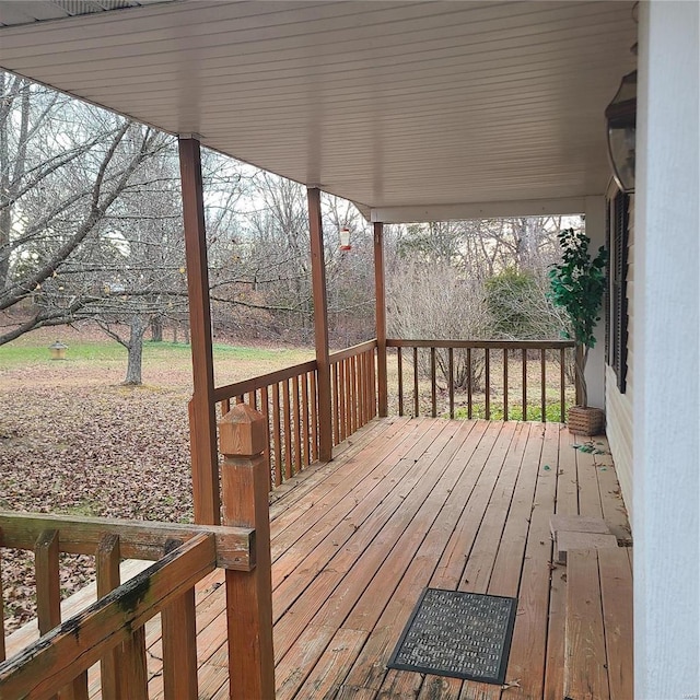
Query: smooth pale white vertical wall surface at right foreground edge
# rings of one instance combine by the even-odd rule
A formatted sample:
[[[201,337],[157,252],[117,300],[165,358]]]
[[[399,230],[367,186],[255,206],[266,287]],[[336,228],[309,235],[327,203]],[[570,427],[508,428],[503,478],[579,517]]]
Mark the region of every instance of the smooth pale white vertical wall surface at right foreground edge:
[[[634,246],[634,686],[700,693],[700,4],[640,3]]]

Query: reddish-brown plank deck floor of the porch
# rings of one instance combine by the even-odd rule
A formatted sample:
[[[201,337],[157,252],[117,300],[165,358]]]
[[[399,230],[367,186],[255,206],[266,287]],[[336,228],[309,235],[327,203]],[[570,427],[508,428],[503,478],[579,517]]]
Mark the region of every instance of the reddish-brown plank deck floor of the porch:
[[[282,487],[277,699],[562,700],[564,684],[573,700],[631,699],[631,549],[551,563],[555,512],[605,517],[629,537],[609,455],[574,444],[555,423],[383,419]],[[197,588],[200,698],[229,697],[221,582],[214,572]],[[425,586],[518,597],[508,688],[386,669]],[[159,635],[149,623],[152,697]]]

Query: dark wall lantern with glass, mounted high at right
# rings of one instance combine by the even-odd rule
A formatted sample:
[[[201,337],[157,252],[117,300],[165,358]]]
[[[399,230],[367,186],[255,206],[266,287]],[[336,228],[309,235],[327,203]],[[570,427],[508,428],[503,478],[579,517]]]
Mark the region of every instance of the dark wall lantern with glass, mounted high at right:
[[[623,192],[634,191],[637,141],[637,71],[622,78],[620,88],[605,110],[608,155],[615,182]]]

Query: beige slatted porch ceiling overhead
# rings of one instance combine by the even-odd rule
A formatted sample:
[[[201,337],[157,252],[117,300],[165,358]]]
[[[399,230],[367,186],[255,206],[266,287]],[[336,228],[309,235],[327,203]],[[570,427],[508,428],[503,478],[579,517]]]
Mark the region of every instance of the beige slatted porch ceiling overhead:
[[[365,214],[429,218],[605,190],[632,4],[182,0],[0,27],[0,66]]]

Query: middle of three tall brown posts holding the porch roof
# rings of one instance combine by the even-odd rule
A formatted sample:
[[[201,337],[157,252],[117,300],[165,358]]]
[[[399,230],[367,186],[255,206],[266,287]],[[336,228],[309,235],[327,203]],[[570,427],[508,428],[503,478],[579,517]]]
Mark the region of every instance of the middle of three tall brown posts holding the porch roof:
[[[330,462],[332,459],[332,410],[330,405],[328,301],[326,298],[324,231],[320,220],[320,190],[310,187],[307,195],[314,293],[314,336],[316,339],[316,363],[318,365],[318,457],[322,462]]]

